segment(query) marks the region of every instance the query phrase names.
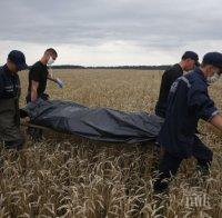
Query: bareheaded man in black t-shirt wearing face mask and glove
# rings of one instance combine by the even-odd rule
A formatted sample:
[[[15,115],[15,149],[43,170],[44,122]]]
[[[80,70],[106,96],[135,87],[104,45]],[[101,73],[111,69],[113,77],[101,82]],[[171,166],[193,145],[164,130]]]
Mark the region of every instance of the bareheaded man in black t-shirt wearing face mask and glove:
[[[47,89],[47,81],[51,80],[62,88],[62,81],[57,78],[52,78],[52,75],[48,71],[48,66],[51,66],[58,57],[57,51],[53,48],[47,49],[43,57],[37,61],[29,71],[29,87],[27,95],[27,103],[34,102],[38,98],[48,100],[49,96],[44,92]],[[36,128],[28,128],[28,133],[34,140],[42,139],[42,130]]]

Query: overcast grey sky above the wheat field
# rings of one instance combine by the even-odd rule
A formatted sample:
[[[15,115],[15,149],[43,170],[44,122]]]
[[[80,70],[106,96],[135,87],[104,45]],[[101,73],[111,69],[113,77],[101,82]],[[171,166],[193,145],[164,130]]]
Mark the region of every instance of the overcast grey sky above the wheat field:
[[[0,0],[0,63],[12,49],[39,60],[49,47],[57,65],[178,62],[221,51],[219,0]]]

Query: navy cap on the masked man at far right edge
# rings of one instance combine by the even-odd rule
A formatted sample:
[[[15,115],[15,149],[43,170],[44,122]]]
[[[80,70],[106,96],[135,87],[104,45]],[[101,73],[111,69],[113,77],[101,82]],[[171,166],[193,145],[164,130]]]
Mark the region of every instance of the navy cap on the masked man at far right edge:
[[[212,65],[221,69],[222,72],[222,53],[220,52],[209,52],[203,57],[203,63]]]

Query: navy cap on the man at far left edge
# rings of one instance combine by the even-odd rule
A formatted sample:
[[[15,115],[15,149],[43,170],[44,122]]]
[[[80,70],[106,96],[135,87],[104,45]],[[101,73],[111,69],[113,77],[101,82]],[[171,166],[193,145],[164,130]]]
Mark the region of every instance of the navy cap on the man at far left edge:
[[[11,60],[18,68],[18,70],[24,70],[28,68],[28,65],[26,63],[26,57],[21,51],[12,50],[8,59]]]

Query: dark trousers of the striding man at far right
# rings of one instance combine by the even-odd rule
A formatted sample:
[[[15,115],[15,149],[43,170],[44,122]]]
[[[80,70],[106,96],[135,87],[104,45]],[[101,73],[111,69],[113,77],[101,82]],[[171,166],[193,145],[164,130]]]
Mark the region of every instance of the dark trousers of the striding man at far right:
[[[193,157],[198,160],[198,167],[202,171],[208,171],[209,166],[212,162],[213,152],[196,137],[195,143],[193,145]],[[162,192],[168,189],[169,179],[171,176],[175,176],[180,164],[184,158],[175,157],[169,153],[167,150],[163,152],[163,157],[159,164],[159,176],[154,182],[154,191]]]

